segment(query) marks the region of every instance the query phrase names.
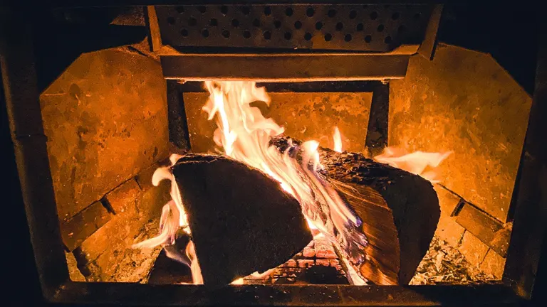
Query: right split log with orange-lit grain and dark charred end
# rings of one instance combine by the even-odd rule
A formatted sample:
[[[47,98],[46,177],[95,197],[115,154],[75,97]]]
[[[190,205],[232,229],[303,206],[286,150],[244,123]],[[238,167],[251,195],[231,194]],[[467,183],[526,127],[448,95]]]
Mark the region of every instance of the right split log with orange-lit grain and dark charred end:
[[[280,151],[288,149],[283,137],[272,144]],[[439,200],[432,184],[362,154],[321,147],[318,153],[324,166],[321,175],[363,222],[360,231],[368,244],[360,274],[375,284],[408,284],[439,222]]]

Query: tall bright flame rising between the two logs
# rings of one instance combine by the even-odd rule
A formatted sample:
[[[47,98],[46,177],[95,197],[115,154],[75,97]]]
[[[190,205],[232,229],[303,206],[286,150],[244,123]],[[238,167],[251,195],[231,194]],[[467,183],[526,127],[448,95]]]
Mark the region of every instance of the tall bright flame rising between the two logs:
[[[361,221],[340,199],[338,193],[318,175],[322,168],[319,161],[318,142],[306,141],[299,149],[303,161],[299,164],[289,156],[289,148],[283,153],[270,146],[272,137],[284,129],[272,119],[266,119],[251,102],[270,103],[264,87],[255,82],[205,82],[210,96],[203,110],[209,120],[216,117],[217,130],[214,142],[224,154],[249,166],[258,168],[281,184],[301,204],[308,224],[340,247],[348,265],[348,278],[352,284],[365,284],[358,267],[364,260],[363,246],[366,239],[360,232]],[[310,169],[311,166],[311,169]],[[234,281],[236,284],[241,281]]]

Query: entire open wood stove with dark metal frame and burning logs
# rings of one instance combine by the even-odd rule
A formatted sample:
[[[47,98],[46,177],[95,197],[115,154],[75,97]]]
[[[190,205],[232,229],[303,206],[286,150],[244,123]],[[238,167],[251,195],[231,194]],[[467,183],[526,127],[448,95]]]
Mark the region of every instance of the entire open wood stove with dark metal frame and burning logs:
[[[36,24],[4,27],[6,105],[48,301],[407,305],[531,297],[545,205],[538,194],[545,163],[538,145],[543,58],[534,89],[530,76],[504,66],[495,53],[442,41],[442,21],[449,24],[457,11],[452,6],[189,2],[59,5],[33,15]],[[20,22],[19,9],[4,11],[5,25]],[[244,101],[249,92],[253,99]],[[250,124],[258,127],[253,133]],[[237,143],[255,132],[269,136],[256,150],[249,149],[256,139]],[[301,183],[291,185],[291,176],[283,177],[288,171],[276,170],[288,164],[260,153],[271,146],[291,158],[288,163],[298,161],[300,173],[319,157],[313,174],[303,175],[318,183],[306,188],[313,195],[327,190],[321,201],[329,212],[340,210],[343,226],[328,224],[336,217],[321,225],[313,220],[321,209],[304,204],[319,198],[304,199],[296,188]],[[215,284],[221,278],[207,271],[222,270],[224,259],[204,254],[205,245],[216,243],[200,243],[206,227],[192,226],[217,198],[188,187],[212,183],[214,176],[184,168],[186,161],[225,161],[219,155],[229,156],[229,172],[246,165],[268,174],[275,193],[288,193],[302,206],[296,213],[273,210],[276,218],[297,216],[309,224],[296,222],[283,234],[276,229],[271,241],[279,245],[266,254],[238,255],[275,265],[254,264],[256,273],[229,279],[243,264],[226,264],[231,284]],[[174,173],[172,182],[153,179],[162,176],[157,169]],[[195,173],[177,177],[183,169]],[[226,174],[219,177],[230,179]],[[183,177],[193,180],[183,184]],[[236,180],[214,182],[224,190],[251,183],[245,176]],[[359,188],[366,193],[355,192]],[[193,204],[177,203],[177,193]],[[352,205],[360,203],[353,198],[371,195],[383,202],[381,214],[374,201],[364,211]],[[222,212],[255,216],[232,207]],[[180,222],[166,230],[172,216]],[[261,223],[268,222],[277,221]],[[345,245],[348,238],[358,241],[355,232],[363,236],[360,247],[373,247],[358,252],[359,261],[350,255],[362,250]],[[236,242],[234,234],[225,235]],[[216,250],[226,258],[240,247],[254,250],[245,246],[251,243],[234,245]],[[202,283],[206,287],[197,286]]]

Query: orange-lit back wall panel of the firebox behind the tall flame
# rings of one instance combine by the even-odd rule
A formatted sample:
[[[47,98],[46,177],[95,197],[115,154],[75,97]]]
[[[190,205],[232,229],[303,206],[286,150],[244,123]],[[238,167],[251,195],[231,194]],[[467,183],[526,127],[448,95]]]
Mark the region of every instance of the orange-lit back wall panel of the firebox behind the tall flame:
[[[285,134],[300,140],[317,140],[333,149],[334,127],[338,126],[342,146],[348,151],[363,151],[367,134],[372,92],[269,92],[271,103],[254,102],[264,117],[285,128]],[[184,106],[192,151],[214,151],[216,119],[207,121],[202,107],[209,93],[184,93]]]

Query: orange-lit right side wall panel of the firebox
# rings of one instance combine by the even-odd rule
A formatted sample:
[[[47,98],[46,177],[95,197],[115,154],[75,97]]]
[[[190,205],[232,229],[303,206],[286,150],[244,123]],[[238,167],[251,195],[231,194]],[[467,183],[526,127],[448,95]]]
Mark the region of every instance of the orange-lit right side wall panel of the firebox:
[[[505,222],[531,97],[491,55],[445,44],[390,85],[389,146],[454,151],[441,184]]]

